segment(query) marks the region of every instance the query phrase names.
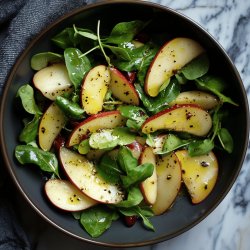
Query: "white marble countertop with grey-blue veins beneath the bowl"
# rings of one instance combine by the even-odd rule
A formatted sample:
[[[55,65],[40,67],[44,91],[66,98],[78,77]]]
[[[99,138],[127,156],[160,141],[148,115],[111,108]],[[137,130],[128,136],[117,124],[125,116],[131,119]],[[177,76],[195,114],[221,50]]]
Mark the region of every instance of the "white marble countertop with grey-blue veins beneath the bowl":
[[[89,1],[91,2],[91,1]],[[93,2],[93,1],[92,1]],[[250,98],[250,1],[243,0],[154,0],[192,18],[210,32],[235,63]],[[154,250],[248,250],[250,249],[250,150],[238,179],[222,203],[188,232],[154,246]],[[29,217],[39,233],[30,234],[36,250],[107,249],[79,242],[42,221],[31,208]],[[24,229],[32,226],[22,219]],[[37,237],[39,235],[39,238]],[[59,244],[58,244],[59,242]]]

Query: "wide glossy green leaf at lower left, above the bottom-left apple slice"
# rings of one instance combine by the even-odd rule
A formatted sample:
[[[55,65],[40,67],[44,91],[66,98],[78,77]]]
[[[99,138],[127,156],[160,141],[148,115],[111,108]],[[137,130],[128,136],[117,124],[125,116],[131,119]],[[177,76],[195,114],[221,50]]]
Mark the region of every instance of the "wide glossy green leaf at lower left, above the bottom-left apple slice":
[[[18,145],[15,148],[16,159],[21,164],[35,164],[40,167],[42,171],[58,174],[58,161],[55,154],[45,152],[42,149],[35,148],[30,145]]]

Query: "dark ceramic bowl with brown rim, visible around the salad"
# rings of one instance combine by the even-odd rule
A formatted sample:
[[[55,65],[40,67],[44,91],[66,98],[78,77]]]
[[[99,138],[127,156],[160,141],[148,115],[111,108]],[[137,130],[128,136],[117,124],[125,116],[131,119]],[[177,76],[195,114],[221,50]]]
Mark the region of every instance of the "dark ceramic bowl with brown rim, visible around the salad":
[[[152,32],[169,36],[187,36],[199,41],[208,51],[211,65],[219,70],[228,83],[227,95],[238,104],[230,107],[230,129],[235,142],[232,154],[219,155],[219,178],[212,194],[202,203],[192,205],[187,196],[179,196],[174,206],[165,214],[152,219],[156,231],[148,231],[137,223],[127,228],[121,221],[97,239],[91,238],[72,218],[71,214],[58,212],[43,196],[44,180],[36,168],[25,168],[14,159],[14,149],[21,131],[21,117],[16,111],[15,95],[20,85],[32,82],[34,72],[30,68],[32,55],[51,50],[50,38],[63,28],[73,24],[95,30],[100,19],[102,29],[110,29],[120,21],[152,19]],[[26,200],[45,220],[80,240],[104,246],[130,247],[153,244],[175,237],[203,220],[223,200],[237,178],[247,148],[248,104],[240,76],[223,48],[200,26],[187,17],[163,6],[143,1],[107,1],[79,8],[64,15],[47,27],[16,62],[6,83],[1,105],[1,146],[6,166]]]

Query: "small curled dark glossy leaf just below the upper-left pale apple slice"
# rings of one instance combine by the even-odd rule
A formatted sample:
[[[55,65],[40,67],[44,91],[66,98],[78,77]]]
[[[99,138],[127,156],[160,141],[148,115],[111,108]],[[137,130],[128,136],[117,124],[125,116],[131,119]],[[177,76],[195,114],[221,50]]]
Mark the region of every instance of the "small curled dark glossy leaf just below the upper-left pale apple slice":
[[[55,103],[67,117],[76,120],[84,118],[84,110],[77,103],[71,102],[62,96],[57,96]]]

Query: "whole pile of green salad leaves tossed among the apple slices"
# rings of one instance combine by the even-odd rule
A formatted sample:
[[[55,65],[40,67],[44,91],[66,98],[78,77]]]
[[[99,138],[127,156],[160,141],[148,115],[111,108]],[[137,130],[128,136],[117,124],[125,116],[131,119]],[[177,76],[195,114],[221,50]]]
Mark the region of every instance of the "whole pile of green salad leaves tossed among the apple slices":
[[[20,145],[15,148],[15,156],[21,164],[37,165],[49,173],[49,178],[64,178],[58,161],[58,145],[67,141],[72,131],[80,122],[89,118],[81,105],[82,82],[87,73],[97,65],[116,68],[130,81],[139,97],[140,105],[127,104],[112,95],[108,90],[103,101],[102,112],[118,110],[125,119],[125,124],[113,129],[100,129],[89,133],[72,150],[82,155],[89,152],[101,152],[91,159],[96,170],[107,182],[119,185],[124,191],[124,200],[117,204],[99,204],[84,211],[74,212],[85,230],[98,237],[106,231],[112,221],[119,217],[141,218],[145,227],[155,230],[149,218],[154,216],[140,189],[140,183],[149,178],[154,171],[152,163],[140,164],[133,155],[131,147],[139,137],[144,145],[155,147],[155,138],[162,133],[142,133],[142,125],[151,116],[171,107],[178,95],[186,89],[212,93],[218,105],[209,110],[212,128],[207,136],[197,137],[185,132],[165,131],[168,136],[157,155],[165,155],[177,149],[185,148],[190,156],[207,154],[214,148],[233,151],[233,139],[223,120],[228,115],[225,103],[237,104],[224,95],[226,83],[210,73],[210,60],[206,53],[198,56],[162,84],[156,97],[147,95],[144,82],[152,60],[163,45],[154,41],[154,34],[147,34],[148,22],[134,20],[116,24],[108,35],[101,35],[100,22],[97,31],[88,28],[68,27],[52,38],[57,47],[56,52],[41,52],[31,59],[31,68],[40,71],[49,65],[62,63],[66,65],[68,77],[73,90],[65,92],[51,101],[30,84],[22,85],[17,97],[26,111],[23,119],[24,128],[19,135]],[[144,36],[142,36],[142,34]],[[146,35],[145,35],[146,34]],[[145,40],[140,40],[144,37]],[[166,41],[165,41],[166,42]],[[39,124],[47,107],[54,102],[65,116],[60,134],[56,137],[50,150],[43,150],[37,142]],[[63,139],[62,139],[63,138]],[[110,154],[110,152],[115,152]]]

